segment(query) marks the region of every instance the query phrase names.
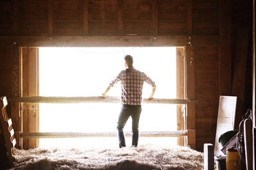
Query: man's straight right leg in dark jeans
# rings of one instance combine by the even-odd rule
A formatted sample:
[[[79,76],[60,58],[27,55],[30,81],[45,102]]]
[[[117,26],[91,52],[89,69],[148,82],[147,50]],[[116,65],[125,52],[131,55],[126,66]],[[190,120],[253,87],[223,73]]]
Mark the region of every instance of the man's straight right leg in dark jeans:
[[[141,106],[134,106],[132,110],[132,141],[131,146],[137,147],[138,145],[138,123],[140,121]]]

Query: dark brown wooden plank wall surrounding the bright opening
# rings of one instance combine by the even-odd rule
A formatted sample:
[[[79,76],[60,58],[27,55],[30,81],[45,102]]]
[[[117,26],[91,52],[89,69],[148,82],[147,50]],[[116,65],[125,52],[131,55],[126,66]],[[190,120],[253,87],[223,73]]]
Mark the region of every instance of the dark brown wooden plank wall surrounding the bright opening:
[[[78,38],[83,46],[91,36],[98,37],[92,43],[100,46],[107,45],[105,38],[122,36],[148,41],[149,45],[151,37],[186,38],[183,45],[191,47],[189,57],[195,66],[196,149],[202,151],[204,143],[215,140],[220,95],[242,95],[238,117],[251,106],[252,24],[248,19],[252,4],[251,0],[0,1],[0,95],[19,96],[19,82],[14,78],[19,76],[15,56],[19,45],[70,45]],[[248,34],[241,31],[245,29]],[[240,37],[248,48],[243,41],[239,43]],[[138,45],[129,39],[122,44]],[[248,60],[242,59],[247,56]],[[237,68],[244,74],[239,75]]]

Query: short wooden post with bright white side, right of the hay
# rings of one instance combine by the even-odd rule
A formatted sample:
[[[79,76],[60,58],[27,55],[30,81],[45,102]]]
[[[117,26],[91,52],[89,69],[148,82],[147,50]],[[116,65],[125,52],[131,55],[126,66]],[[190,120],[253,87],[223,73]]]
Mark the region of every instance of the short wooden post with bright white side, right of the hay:
[[[204,170],[214,169],[214,147],[211,143],[204,143]]]

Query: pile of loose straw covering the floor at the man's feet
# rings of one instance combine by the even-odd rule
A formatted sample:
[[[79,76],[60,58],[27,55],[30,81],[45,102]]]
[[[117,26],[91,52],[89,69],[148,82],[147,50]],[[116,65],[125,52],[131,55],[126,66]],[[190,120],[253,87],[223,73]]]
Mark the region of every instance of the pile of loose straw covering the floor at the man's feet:
[[[188,147],[14,149],[14,158],[12,169],[203,169],[203,154]]]

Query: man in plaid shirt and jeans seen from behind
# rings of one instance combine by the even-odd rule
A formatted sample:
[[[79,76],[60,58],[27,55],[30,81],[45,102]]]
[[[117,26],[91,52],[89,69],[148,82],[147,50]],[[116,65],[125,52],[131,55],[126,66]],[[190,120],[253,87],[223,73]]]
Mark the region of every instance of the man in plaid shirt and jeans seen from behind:
[[[133,58],[130,55],[125,56],[125,70],[122,70],[113,81],[110,82],[109,87],[103,93],[103,97],[107,97],[107,92],[118,81],[121,82],[122,108],[118,117],[118,141],[119,147],[126,147],[125,136],[122,131],[125,123],[131,117],[132,119],[132,141],[131,147],[138,145],[138,123],[140,121],[141,104],[142,104],[142,87],[144,82],[152,86],[151,95],[149,99],[153,99],[156,90],[156,84],[145,73],[134,69]]]

